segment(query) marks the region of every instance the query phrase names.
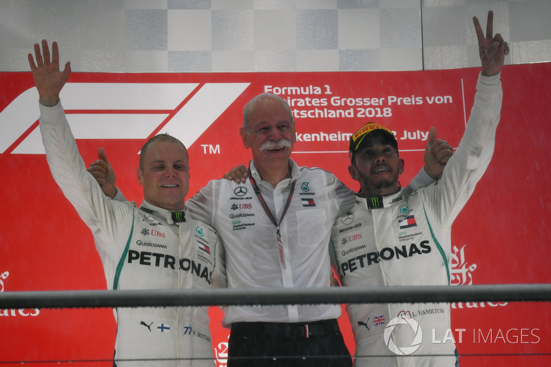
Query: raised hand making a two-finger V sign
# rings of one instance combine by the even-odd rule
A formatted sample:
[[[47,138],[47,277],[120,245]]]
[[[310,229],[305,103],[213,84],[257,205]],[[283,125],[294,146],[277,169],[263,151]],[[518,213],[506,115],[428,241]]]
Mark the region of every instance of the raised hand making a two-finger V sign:
[[[492,36],[494,29],[494,12],[488,12],[488,22],[486,23],[486,36],[482,31],[477,17],[472,17],[472,23],[475,23],[477,32],[480,60],[482,63],[482,74],[492,76],[501,71],[505,55],[509,54],[509,46],[503,41],[501,34],[496,33]]]

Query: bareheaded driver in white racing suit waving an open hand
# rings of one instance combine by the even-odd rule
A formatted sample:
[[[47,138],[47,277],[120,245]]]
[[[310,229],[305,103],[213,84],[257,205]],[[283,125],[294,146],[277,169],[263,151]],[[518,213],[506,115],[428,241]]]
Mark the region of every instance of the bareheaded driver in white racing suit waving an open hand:
[[[40,130],[52,176],[94,235],[108,289],[209,288],[218,266],[218,233],[189,216],[189,158],[165,134],[143,147],[138,180],[144,200],[107,198],[85,168],[59,100],[70,65],[59,71],[52,44],[34,45],[29,63],[40,96]],[[117,308],[114,365],[214,366],[207,307]]]

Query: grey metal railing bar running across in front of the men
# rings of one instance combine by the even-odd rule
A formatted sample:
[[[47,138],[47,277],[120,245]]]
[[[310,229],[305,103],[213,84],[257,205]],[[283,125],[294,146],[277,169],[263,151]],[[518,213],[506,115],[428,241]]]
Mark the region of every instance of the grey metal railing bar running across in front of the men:
[[[551,301],[551,284],[0,292],[0,308],[541,301]]]

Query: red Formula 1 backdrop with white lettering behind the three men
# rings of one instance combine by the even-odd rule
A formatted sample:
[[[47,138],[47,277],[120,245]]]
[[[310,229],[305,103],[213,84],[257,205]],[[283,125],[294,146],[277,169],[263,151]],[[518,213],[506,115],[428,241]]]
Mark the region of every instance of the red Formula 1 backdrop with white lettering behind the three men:
[[[102,146],[117,184],[141,202],[138,151],[157,132],[189,147],[191,193],[250,152],[238,128],[242,107],[260,92],[286,98],[297,118],[299,165],[322,167],[352,189],[348,136],[373,120],[396,132],[406,160],[402,185],[422,167],[426,134],[457,146],[475,94],[477,69],[430,72],[255,74],[75,73],[61,98],[85,162]],[[551,63],[503,68],[503,108],[495,155],[452,231],[453,284],[549,283],[546,224],[551,193]],[[105,289],[92,235],[56,187],[41,148],[38,95],[30,73],[0,73],[0,291]],[[461,366],[546,366],[548,303],[453,304]],[[227,331],[211,308],[217,365]],[[340,319],[354,350],[346,316]],[[0,363],[90,361],[112,357],[110,309],[0,310]],[[444,339],[436,335],[435,342]],[[548,353],[542,356],[542,353]],[[504,356],[505,355],[505,356]]]

